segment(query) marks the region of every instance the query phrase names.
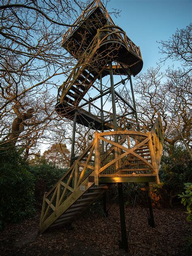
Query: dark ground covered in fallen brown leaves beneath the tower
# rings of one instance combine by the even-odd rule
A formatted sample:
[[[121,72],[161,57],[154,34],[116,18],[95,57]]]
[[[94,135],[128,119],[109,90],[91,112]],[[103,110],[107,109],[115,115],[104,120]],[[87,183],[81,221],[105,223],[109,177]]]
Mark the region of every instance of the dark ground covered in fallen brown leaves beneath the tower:
[[[126,207],[125,211],[128,230],[132,208]],[[154,209],[156,227],[151,228],[145,209],[136,207],[128,237],[129,253],[119,250],[118,246],[121,233],[117,204],[110,208],[108,221],[98,209],[94,212],[89,209],[71,228],[61,227],[42,235],[38,234],[40,215],[37,214],[0,232],[0,256],[184,256],[190,227],[183,211],[182,208]]]

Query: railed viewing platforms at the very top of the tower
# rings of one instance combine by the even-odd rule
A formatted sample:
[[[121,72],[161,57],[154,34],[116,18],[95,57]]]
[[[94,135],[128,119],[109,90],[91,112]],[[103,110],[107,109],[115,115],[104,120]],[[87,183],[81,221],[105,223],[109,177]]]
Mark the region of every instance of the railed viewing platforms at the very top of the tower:
[[[96,76],[109,74],[107,63],[119,65],[121,75],[137,75],[143,60],[140,48],[135,45],[121,28],[115,26],[109,13],[100,2],[94,0],[63,36],[62,47],[73,55],[79,64],[89,59],[87,70]],[[86,63],[85,63],[86,64]]]

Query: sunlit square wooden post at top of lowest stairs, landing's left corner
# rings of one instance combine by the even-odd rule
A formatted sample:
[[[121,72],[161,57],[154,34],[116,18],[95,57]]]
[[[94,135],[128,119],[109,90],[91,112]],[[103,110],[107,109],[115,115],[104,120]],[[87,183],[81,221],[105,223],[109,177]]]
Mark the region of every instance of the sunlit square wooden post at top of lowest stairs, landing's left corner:
[[[99,185],[99,170],[100,170],[100,147],[99,147],[99,139],[98,132],[95,132],[95,185]]]

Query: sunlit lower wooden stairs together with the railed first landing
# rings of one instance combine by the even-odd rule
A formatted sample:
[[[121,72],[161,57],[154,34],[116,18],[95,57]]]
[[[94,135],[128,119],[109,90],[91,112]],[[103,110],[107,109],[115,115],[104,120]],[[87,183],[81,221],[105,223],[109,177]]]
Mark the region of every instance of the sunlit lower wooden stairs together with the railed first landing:
[[[136,126],[137,124],[135,124]],[[118,143],[115,137],[119,137]],[[110,186],[111,178],[137,182],[158,179],[164,133],[160,117],[150,132],[118,130],[95,132],[95,139],[58,183],[44,194],[39,226],[48,228],[72,222]],[[101,151],[102,143],[105,151]],[[102,182],[104,178],[105,182]],[[136,181],[137,180],[137,181]]]

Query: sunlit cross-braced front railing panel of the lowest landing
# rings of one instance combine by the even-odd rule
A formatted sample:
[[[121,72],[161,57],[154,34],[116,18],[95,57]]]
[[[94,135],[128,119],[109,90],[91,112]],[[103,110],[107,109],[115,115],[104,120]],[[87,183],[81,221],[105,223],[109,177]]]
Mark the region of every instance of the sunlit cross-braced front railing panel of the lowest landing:
[[[133,131],[97,134],[100,144],[99,175],[152,174],[149,134]]]

